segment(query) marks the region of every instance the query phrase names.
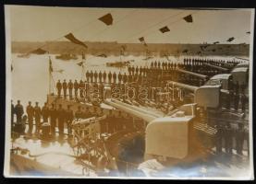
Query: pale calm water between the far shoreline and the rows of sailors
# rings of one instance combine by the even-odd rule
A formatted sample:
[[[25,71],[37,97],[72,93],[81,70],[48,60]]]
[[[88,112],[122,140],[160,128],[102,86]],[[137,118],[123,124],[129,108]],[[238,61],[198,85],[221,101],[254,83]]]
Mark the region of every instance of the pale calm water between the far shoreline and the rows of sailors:
[[[77,63],[81,61],[70,60],[62,61],[55,59],[55,55],[50,55],[53,62],[54,70],[64,70],[62,74],[55,72],[54,79],[57,81],[60,80],[69,80],[81,79],[81,66]],[[122,61],[134,60],[131,65],[141,65],[150,66],[152,61],[163,61],[168,62],[166,58],[152,58],[149,60],[143,60],[145,56],[135,57],[135,56],[126,56],[121,58]],[[206,58],[206,57],[204,57]],[[213,59],[226,59],[233,60],[234,57],[219,57],[219,56],[208,56],[208,58]],[[168,58],[171,61],[181,62],[183,61],[183,56],[178,58],[170,56]],[[89,71],[111,71],[119,73],[127,73],[127,68],[116,68],[116,67],[106,67],[105,63],[120,61],[120,57],[108,56],[107,58],[101,57],[92,57],[91,55],[87,56],[85,62],[85,70]],[[43,102],[46,100],[46,95],[49,91],[49,55],[30,55],[29,58],[18,58],[17,54],[12,54],[12,79],[11,79],[11,93],[12,99],[16,104],[17,100],[21,100],[21,104],[24,106],[27,105],[28,101],[31,101],[34,105],[35,101],[38,101],[40,105],[43,105]]]

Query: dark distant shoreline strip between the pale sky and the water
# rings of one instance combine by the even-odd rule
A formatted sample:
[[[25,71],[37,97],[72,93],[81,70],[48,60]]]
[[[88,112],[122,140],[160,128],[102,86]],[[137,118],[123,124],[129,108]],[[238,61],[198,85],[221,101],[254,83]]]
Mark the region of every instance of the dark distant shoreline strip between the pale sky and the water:
[[[118,43],[114,42],[85,42],[88,49],[76,45],[69,41],[45,41],[45,42],[32,42],[32,41],[12,41],[11,51],[12,53],[28,53],[38,48],[50,52],[52,54],[60,53],[73,53],[96,55],[120,55],[121,47],[125,46],[125,55],[146,55],[148,50],[152,56],[163,56],[165,55],[218,55],[218,56],[248,56],[250,55],[249,44],[179,44],[179,43],[147,43],[147,47],[141,43]],[[208,45],[206,49],[201,50],[200,46]],[[186,52],[187,51],[187,52]]]

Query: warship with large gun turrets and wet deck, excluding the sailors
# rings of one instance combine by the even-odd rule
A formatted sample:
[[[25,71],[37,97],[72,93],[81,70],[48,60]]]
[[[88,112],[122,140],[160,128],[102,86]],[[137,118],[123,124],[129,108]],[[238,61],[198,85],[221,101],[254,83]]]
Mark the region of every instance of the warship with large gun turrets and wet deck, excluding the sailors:
[[[211,73],[209,77],[211,74],[205,75],[203,70],[195,72],[189,65],[179,66],[175,77],[166,81],[165,90],[155,93],[158,104],[154,99],[130,98],[132,83],[120,84],[124,91],[120,90],[117,96],[113,95],[117,86],[104,84],[104,96],[100,98],[99,93],[95,96],[93,85],[88,84],[92,93],[71,99],[58,97],[53,92],[55,86],[50,85],[48,107],[61,104],[70,106],[73,112],[80,107],[93,115],[72,121],[72,132],[68,133],[66,127],[64,137],[51,136],[49,123],[42,124],[39,134],[12,132],[11,173],[26,176],[32,172],[36,177],[166,177],[172,175],[171,169],[189,169],[198,163],[216,167],[218,122],[230,121],[235,129],[243,123],[249,129],[248,108],[236,111],[222,104],[235,84],[245,86],[248,97],[249,64],[205,62],[202,66],[212,68],[217,75]],[[204,84],[186,84],[183,80],[186,76],[200,78]],[[51,83],[51,71],[49,77]],[[91,97],[94,101],[89,100]],[[176,104],[177,99],[183,102]],[[103,128],[108,117],[111,121]],[[111,132],[111,123],[117,123],[116,127],[118,123],[122,125]],[[246,140],[243,156],[249,155]],[[232,145],[232,149],[235,147]],[[47,162],[51,157],[55,157],[54,161]],[[233,165],[239,167],[245,163]],[[217,171],[193,172],[194,176],[212,176],[214,172],[229,176],[232,171],[225,174],[219,166]]]

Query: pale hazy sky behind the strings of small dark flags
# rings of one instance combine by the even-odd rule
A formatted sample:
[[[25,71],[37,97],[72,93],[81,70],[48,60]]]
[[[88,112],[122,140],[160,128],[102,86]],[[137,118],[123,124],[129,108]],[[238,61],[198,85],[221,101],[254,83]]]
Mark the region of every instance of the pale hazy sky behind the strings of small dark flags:
[[[6,6],[12,41],[53,41],[72,32],[83,41],[148,43],[202,43],[220,41],[250,43],[251,9],[184,10],[153,8],[87,8]],[[106,26],[98,18],[111,13],[114,22]],[[183,17],[192,15],[193,23]],[[160,28],[168,26],[165,34]]]

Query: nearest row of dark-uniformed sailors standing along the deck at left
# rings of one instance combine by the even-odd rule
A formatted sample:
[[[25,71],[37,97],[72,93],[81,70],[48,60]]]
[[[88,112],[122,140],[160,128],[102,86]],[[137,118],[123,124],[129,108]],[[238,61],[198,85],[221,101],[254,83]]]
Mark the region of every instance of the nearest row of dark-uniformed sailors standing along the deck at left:
[[[14,107],[12,104],[12,114],[11,114],[11,121],[12,124],[14,124],[14,115],[17,116],[17,124],[23,123],[23,131],[25,131],[25,123],[28,121],[29,124],[29,130],[28,133],[33,132],[33,126],[35,122],[35,132],[40,133],[41,125],[44,122],[49,122],[51,127],[51,134],[55,135],[55,128],[58,128],[59,135],[64,135],[64,127],[65,124],[67,124],[67,134],[72,133],[71,129],[71,123],[75,119],[87,119],[91,117],[102,117],[104,116],[103,109],[97,110],[89,109],[87,107],[86,109],[81,109],[79,106],[78,109],[73,112],[72,109],[70,109],[71,106],[67,106],[67,109],[64,109],[61,104],[58,105],[58,108],[55,107],[55,104],[52,104],[49,108],[47,103],[44,103],[43,108],[41,109],[39,107],[39,103],[36,102],[35,106],[33,107],[31,105],[31,102],[29,101],[28,106],[26,107],[26,114],[24,115],[24,109],[23,106],[20,104],[20,101],[18,100],[18,104]],[[26,117],[24,119],[24,117]],[[127,114],[124,116],[121,111],[118,111],[118,114],[114,114],[112,109],[109,109],[109,112],[107,113],[106,119],[100,122],[101,132],[118,132],[123,129],[133,129],[135,128],[134,124],[131,122],[132,118]]]

